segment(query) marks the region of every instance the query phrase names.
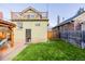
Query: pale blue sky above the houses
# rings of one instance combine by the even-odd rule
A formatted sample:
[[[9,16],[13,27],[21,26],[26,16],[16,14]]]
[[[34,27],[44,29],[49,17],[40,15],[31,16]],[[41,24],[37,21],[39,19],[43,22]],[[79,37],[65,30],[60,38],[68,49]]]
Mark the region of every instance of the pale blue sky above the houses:
[[[53,27],[57,24],[57,15],[65,20],[73,16],[77,10],[85,8],[83,3],[0,3],[0,11],[3,12],[4,20],[11,20],[11,11],[20,12],[28,7],[45,12],[48,11],[49,25]],[[60,20],[60,22],[61,22]]]

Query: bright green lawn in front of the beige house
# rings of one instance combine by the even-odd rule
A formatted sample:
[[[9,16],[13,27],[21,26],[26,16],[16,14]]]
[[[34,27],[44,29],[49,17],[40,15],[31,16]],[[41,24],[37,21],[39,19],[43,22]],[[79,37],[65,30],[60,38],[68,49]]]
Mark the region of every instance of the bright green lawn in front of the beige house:
[[[32,43],[26,47],[13,61],[85,61],[85,49],[76,48],[62,40]]]

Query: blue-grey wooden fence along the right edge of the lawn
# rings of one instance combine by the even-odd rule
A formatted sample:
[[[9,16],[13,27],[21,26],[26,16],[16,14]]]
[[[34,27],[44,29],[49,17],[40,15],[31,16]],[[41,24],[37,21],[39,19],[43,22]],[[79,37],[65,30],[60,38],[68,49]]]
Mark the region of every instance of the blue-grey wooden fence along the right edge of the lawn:
[[[75,43],[81,48],[85,48],[85,31],[84,30],[60,31],[60,38],[71,43]]]

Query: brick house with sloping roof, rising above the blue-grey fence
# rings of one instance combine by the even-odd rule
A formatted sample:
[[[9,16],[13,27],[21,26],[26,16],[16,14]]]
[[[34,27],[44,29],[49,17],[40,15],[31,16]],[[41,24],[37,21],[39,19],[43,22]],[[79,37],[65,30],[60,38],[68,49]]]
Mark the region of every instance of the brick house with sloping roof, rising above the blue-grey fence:
[[[53,28],[59,28],[60,31],[66,30],[85,30],[83,26],[85,25],[85,11],[84,9],[80,9],[79,12],[60,23],[59,25],[53,27]]]

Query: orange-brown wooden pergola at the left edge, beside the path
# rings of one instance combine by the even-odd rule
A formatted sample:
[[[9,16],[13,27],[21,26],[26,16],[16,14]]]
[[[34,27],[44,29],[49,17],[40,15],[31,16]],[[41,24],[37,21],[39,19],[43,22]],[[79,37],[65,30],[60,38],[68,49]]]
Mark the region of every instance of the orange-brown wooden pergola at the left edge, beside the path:
[[[9,43],[11,47],[14,46],[14,27],[15,24],[0,20],[0,49],[6,43]]]

